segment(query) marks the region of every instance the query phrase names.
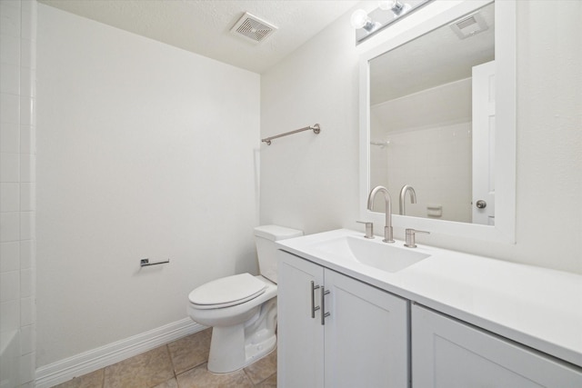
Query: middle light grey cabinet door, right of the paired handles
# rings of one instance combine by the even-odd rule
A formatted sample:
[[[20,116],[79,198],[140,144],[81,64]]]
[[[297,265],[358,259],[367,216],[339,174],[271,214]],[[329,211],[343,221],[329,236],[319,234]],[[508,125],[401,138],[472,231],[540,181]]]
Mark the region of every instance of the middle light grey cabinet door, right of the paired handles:
[[[407,387],[408,302],[327,269],[325,281],[325,386]]]

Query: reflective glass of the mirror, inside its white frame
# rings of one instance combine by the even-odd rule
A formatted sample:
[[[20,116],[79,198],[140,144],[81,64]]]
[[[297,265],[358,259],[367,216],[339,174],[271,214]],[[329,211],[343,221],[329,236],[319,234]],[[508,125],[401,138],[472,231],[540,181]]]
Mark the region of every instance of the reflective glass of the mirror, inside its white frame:
[[[495,224],[494,7],[369,63],[370,189],[401,199],[394,214]]]

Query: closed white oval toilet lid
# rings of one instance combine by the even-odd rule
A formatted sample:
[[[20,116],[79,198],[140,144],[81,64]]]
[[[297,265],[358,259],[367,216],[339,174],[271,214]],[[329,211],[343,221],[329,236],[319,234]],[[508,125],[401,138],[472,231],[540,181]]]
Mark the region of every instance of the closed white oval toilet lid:
[[[252,274],[236,274],[202,284],[188,295],[191,303],[228,307],[245,303],[265,293],[266,284]]]

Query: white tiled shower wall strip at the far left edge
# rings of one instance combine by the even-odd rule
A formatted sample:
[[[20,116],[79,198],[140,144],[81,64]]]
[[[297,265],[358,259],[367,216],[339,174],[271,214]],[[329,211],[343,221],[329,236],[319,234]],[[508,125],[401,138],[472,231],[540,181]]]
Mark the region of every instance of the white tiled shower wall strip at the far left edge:
[[[35,378],[36,2],[3,0],[0,26],[0,386],[24,386]]]

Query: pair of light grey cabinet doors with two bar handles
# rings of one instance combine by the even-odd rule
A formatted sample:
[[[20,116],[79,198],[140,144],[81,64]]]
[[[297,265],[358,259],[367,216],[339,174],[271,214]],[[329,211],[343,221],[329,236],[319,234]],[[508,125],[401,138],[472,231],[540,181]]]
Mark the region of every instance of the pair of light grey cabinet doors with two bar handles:
[[[409,386],[409,303],[293,254],[277,254],[277,386]]]

